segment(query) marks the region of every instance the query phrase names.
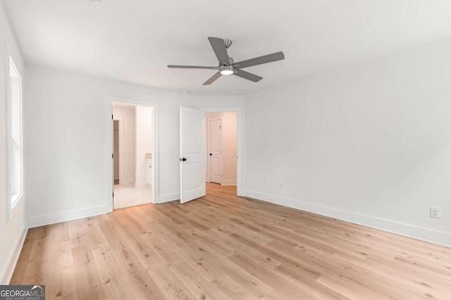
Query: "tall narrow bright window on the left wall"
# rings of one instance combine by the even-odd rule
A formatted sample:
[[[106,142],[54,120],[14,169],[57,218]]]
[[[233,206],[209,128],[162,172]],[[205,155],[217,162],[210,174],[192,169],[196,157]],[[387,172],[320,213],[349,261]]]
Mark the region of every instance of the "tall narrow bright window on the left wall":
[[[11,209],[22,195],[22,78],[9,58],[8,82],[9,191]]]

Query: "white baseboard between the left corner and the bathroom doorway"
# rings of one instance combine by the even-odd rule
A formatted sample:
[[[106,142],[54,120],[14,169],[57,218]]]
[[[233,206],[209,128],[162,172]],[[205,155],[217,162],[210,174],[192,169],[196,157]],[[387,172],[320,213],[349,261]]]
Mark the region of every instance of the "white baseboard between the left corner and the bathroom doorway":
[[[88,216],[97,216],[99,214],[108,213],[108,206],[101,205],[98,207],[88,207],[86,209],[75,209],[72,211],[61,211],[56,214],[42,214],[39,216],[31,216],[28,218],[28,227],[38,227],[54,223],[72,221],[76,219],[86,218]]]

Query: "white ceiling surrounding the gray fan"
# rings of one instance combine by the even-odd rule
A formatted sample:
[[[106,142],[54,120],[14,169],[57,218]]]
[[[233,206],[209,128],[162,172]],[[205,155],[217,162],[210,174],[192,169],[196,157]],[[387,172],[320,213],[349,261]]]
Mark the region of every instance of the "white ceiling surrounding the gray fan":
[[[25,61],[192,94],[241,94],[451,35],[449,0],[3,0]],[[231,39],[258,83],[214,70],[207,37]]]

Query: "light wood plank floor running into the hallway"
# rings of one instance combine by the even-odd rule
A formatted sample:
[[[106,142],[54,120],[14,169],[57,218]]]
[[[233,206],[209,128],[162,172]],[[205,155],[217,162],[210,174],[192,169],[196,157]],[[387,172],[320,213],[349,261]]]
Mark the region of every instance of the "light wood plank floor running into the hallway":
[[[451,299],[451,249],[236,197],[30,229],[11,284],[47,299]]]

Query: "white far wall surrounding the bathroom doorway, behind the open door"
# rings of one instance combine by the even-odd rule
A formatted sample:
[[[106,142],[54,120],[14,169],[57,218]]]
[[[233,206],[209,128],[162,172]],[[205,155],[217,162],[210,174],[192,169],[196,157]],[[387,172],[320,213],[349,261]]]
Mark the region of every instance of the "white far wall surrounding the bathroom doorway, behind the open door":
[[[180,105],[244,107],[243,96],[202,97],[27,67],[25,168],[30,226],[103,214],[106,203],[106,96],[159,103],[159,195],[180,199]],[[43,173],[44,172],[44,173]]]

